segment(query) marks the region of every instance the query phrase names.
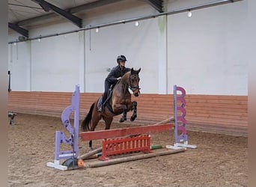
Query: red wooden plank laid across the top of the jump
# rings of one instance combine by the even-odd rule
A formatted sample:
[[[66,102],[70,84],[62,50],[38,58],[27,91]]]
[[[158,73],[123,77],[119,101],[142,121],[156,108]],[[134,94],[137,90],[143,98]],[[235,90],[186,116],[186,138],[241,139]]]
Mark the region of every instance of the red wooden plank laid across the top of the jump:
[[[79,136],[82,138],[82,141],[91,141],[91,140],[99,140],[104,138],[122,137],[126,135],[171,131],[173,127],[174,127],[174,124],[171,124],[171,123],[154,124],[150,126],[129,127],[128,129],[109,129],[109,130],[100,130],[100,131],[94,131],[94,132],[81,132],[79,133]]]

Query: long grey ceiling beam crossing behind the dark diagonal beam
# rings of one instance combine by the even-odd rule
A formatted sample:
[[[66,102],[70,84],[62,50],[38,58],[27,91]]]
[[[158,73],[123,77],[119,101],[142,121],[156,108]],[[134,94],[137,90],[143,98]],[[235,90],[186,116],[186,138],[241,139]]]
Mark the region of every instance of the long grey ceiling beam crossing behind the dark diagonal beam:
[[[72,7],[66,11],[70,12],[70,13],[77,13],[81,10],[90,10],[92,8],[95,7],[101,7],[104,6],[106,4],[112,4],[118,1],[124,1],[124,0],[100,0],[100,1],[94,1],[88,4],[82,4],[80,6],[77,7]],[[48,13],[45,14],[43,16],[37,16],[37,17],[33,17],[33,18],[29,18],[29,19],[24,19],[22,21],[16,22],[17,25],[22,26],[22,25],[29,25],[33,22],[40,22],[46,19],[51,19],[51,18],[55,18],[56,16],[58,16],[56,13]]]

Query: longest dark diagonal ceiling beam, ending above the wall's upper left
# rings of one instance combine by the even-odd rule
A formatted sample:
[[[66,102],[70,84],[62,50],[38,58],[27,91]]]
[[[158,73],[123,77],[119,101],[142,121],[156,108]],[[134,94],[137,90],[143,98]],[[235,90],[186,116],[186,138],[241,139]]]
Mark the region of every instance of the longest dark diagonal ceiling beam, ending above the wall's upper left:
[[[49,2],[44,1],[44,0],[31,0],[31,1],[34,1],[37,4],[40,4],[40,6],[43,7],[43,10],[47,10],[49,8],[49,9],[53,10],[55,13],[58,13],[59,15],[64,16],[65,18],[69,19],[71,22],[73,22],[79,28],[82,28],[82,19],[77,16],[74,16],[72,13],[69,13],[66,10],[56,7],[55,5],[50,4]]]

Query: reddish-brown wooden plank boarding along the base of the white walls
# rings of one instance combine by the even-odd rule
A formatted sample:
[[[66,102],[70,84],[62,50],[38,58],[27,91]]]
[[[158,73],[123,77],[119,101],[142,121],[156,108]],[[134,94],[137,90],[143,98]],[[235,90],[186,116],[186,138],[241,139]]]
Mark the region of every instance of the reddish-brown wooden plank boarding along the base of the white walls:
[[[60,117],[71,103],[72,93],[25,92],[9,93],[8,109],[16,113]],[[81,93],[80,119],[85,117],[100,93]],[[141,94],[132,96],[138,102],[138,118],[133,123],[153,124],[173,116],[172,94]],[[187,128],[247,136],[248,96],[186,95]],[[127,115],[130,116],[130,112]],[[114,121],[118,121],[115,117]],[[127,118],[128,119],[128,118]],[[129,123],[127,121],[126,123]]]

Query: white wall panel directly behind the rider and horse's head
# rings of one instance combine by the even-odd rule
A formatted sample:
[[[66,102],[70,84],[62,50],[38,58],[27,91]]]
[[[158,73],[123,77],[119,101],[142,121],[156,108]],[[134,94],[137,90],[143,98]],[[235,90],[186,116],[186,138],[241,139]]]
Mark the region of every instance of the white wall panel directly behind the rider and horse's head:
[[[156,93],[158,89],[157,20],[114,25],[86,31],[85,87],[88,92],[103,92],[107,69],[117,65],[118,55],[127,57],[127,67],[141,67],[141,93]]]

